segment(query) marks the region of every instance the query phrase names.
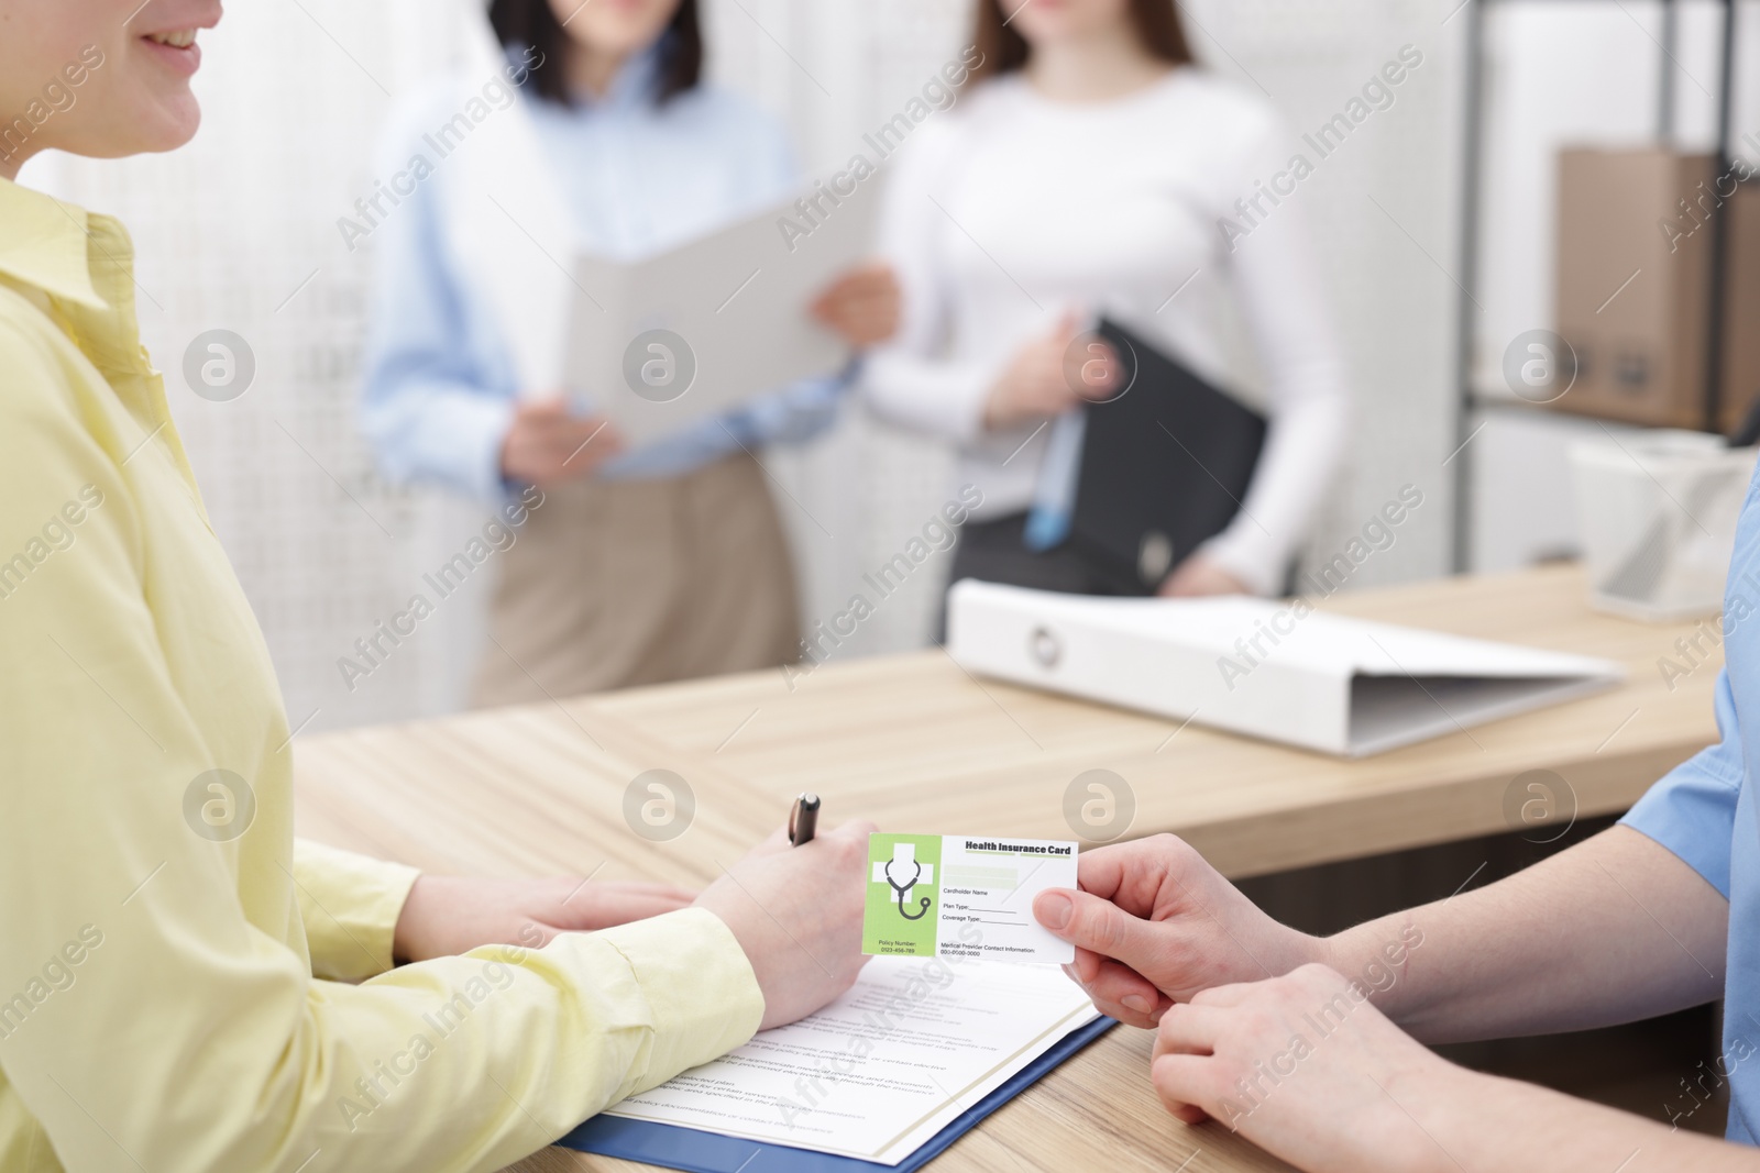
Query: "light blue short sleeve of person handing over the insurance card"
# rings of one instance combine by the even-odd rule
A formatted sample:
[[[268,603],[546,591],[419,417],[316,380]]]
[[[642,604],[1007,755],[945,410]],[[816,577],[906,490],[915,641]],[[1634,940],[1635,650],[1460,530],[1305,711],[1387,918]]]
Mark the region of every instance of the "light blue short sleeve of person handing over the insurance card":
[[[1746,767],[1727,672],[1718,674],[1716,707],[1721,740],[1670,770],[1619,821],[1674,851],[1728,899],[1735,798]]]

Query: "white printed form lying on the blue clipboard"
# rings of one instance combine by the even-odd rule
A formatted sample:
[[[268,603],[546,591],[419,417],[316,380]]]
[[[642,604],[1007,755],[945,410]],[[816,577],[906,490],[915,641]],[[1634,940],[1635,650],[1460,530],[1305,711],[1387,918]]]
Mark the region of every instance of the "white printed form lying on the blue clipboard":
[[[876,957],[817,1015],[609,1113],[898,1164],[1098,1016],[1060,969]]]

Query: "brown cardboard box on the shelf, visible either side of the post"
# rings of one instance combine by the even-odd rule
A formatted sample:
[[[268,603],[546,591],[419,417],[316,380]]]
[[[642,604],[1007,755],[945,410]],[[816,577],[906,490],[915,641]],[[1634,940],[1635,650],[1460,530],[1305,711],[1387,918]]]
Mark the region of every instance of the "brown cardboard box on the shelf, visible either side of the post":
[[[1705,426],[1711,220],[1728,232],[1720,427],[1760,394],[1760,192],[1712,155],[1559,151],[1558,332],[1577,380],[1549,406],[1660,427]]]

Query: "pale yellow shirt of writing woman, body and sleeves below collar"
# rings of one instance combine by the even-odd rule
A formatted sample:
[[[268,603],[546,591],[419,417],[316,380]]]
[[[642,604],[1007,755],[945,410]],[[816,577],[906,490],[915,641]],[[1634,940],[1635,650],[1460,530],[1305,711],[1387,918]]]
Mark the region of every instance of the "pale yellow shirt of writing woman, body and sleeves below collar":
[[[498,1169],[750,1038],[762,994],[699,909],[385,971],[412,876],[294,849],[280,712],[236,767],[248,832],[192,821],[262,703],[213,714],[273,677],[199,503],[60,341],[0,304],[5,1168]]]

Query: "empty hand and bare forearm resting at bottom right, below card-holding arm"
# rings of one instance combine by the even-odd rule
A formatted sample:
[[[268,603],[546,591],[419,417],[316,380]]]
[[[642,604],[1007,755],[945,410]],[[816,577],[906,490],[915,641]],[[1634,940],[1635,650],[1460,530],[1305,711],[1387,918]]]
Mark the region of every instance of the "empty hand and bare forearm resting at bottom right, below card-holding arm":
[[[1760,1154],[1457,1067],[1324,965],[1167,1009],[1151,1078],[1308,1173],[1753,1173]]]

